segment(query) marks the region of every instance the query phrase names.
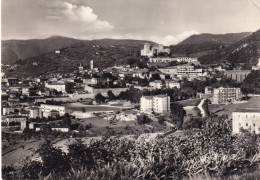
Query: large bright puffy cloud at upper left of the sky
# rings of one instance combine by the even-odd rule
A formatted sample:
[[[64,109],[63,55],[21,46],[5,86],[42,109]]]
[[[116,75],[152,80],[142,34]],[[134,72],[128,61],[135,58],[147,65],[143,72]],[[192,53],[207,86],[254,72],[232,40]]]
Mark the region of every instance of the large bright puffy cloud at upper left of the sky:
[[[47,9],[46,18],[60,23],[74,23],[82,32],[109,31],[114,29],[114,26],[109,22],[98,19],[91,7],[71,2],[54,1]]]

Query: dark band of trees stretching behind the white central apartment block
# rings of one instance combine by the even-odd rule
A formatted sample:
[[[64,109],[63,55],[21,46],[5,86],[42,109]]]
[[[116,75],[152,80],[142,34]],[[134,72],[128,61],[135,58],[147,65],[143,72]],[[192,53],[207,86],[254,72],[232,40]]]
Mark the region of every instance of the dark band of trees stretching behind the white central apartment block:
[[[252,74],[252,73],[251,73]],[[253,72],[252,75],[249,75],[249,78],[255,78],[255,76],[258,76],[259,73]],[[248,79],[248,78],[247,78]],[[190,98],[194,98],[197,95],[197,92],[204,93],[206,86],[212,86],[213,88],[219,88],[221,86],[223,87],[247,87],[248,84],[247,79],[243,83],[239,83],[233,79],[227,78],[223,76],[220,80],[217,80],[217,78],[206,78],[206,80],[193,80],[188,81],[187,79],[183,80],[183,83],[181,84],[181,88],[172,88],[172,89],[154,89],[154,90],[140,90],[135,89],[134,87],[130,87],[128,90],[121,92],[118,96],[115,96],[112,91],[108,91],[107,95],[108,97],[103,96],[102,94],[97,94],[95,96],[95,100],[97,103],[103,103],[107,99],[108,100],[127,100],[131,103],[140,103],[140,98],[144,96],[155,96],[159,94],[167,94],[170,96],[171,101],[179,101],[179,100],[186,100]],[[257,84],[257,82],[254,82]],[[253,84],[254,84],[253,83]],[[252,85],[251,85],[252,86]],[[248,86],[249,88],[250,86]],[[248,92],[254,92],[256,85],[254,85],[253,89],[246,89],[242,88],[242,93],[247,94]]]

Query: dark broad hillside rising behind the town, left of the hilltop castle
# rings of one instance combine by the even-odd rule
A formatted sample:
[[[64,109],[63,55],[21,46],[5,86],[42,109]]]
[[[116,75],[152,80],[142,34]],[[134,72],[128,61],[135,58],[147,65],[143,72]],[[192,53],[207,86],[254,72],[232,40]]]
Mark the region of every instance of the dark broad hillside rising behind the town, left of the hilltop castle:
[[[61,50],[54,51],[19,60],[16,70],[6,72],[8,76],[39,76],[46,73],[70,73],[81,62],[85,68],[94,60],[95,67],[110,67],[125,64],[129,59],[139,59],[140,49],[144,43],[155,43],[142,40],[114,40],[100,39],[93,41],[79,41]],[[36,64],[34,65],[33,64]],[[32,68],[33,67],[33,68]]]

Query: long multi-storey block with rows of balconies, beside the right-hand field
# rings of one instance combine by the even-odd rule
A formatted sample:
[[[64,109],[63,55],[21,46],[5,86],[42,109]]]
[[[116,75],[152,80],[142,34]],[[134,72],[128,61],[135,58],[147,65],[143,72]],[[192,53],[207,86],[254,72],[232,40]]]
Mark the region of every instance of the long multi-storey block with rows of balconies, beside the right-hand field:
[[[213,104],[227,103],[241,100],[242,94],[240,88],[220,87],[213,89]]]

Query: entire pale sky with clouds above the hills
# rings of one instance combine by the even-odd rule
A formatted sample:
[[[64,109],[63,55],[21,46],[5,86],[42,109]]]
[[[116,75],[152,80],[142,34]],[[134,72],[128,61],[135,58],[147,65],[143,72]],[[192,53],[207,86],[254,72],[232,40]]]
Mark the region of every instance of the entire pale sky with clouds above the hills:
[[[140,39],[260,29],[260,0],[2,0],[2,39]]]

